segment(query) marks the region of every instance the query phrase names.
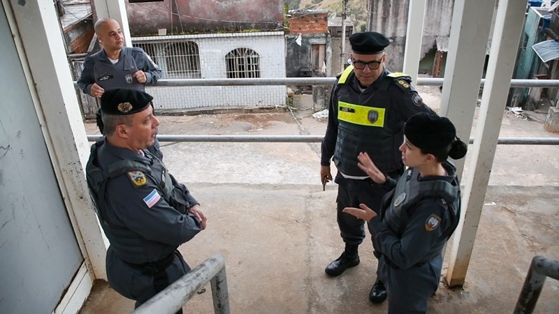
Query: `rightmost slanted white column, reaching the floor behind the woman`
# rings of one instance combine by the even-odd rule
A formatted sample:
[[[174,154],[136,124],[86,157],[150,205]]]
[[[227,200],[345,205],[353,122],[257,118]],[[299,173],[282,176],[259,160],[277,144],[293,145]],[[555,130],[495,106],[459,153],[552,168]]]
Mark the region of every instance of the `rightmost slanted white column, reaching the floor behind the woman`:
[[[463,194],[462,223],[454,236],[447,271],[447,283],[451,287],[465,282],[507,103],[525,10],[525,0],[499,1],[470,170]]]

